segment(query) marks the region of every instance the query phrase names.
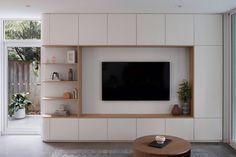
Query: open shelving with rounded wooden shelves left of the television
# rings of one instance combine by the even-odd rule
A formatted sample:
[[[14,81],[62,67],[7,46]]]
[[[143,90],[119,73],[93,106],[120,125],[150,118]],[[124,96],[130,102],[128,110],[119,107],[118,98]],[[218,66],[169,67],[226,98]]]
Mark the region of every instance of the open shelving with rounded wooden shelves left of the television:
[[[43,45],[43,59],[42,59],[42,105],[44,108],[42,117],[44,118],[78,118],[79,113],[81,113],[81,48],[78,46],[71,45]],[[67,63],[66,56],[67,51],[75,50],[76,51],[76,62],[75,63]],[[48,62],[48,58],[52,58],[52,56],[56,57],[56,62],[52,63],[51,60]],[[68,74],[67,69],[73,68],[74,80],[66,80],[66,75]],[[53,70],[52,70],[53,69]],[[52,72],[58,72],[61,81],[50,80]],[[64,77],[63,77],[64,76]],[[65,79],[66,78],[66,79]],[[55,89],[56,87],[56,89]],[[74,99],[65,99],[62,97],[63,92],[68,90],[72,92],[76,88],[78,90],[78,98]],[[56,90],[55,93],[53,90]],[[55,94],[55,96],[54,96]],[[71,93],[72,94],[72,93]],[[59,96],[58,96],[59,95]],[[60,96],[61,95],[61,96]],[[53,112],[56,111],[60,105],[68,105],[70,113],[73,113],[69,116],[56,116],[53,115]],[[48,105],[50,105],[50,109],[48,109]],[[55,106],[55,107],[54,107]],[[52,110],[54,108],[54,111]]]

